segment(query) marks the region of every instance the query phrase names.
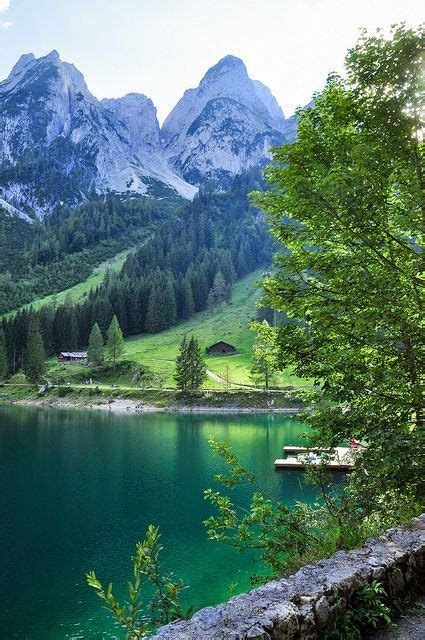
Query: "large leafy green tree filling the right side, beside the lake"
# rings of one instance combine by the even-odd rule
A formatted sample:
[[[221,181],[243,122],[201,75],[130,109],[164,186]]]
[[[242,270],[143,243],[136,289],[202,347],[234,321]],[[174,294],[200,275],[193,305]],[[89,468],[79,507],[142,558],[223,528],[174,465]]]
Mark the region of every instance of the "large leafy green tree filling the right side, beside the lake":
[[[351,483],[365,511],[421,501],[423,29],[363,34],[274,154],[256,204],[290,251],[266,278],[285,311],[280,361],[317,380],[323,444],[366,440]]]

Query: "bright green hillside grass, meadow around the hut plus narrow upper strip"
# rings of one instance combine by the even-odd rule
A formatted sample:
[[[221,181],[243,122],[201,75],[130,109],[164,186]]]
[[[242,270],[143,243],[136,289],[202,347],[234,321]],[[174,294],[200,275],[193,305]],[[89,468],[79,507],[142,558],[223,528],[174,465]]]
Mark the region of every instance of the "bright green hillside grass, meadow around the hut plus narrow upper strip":
[[[55,296],[47,296],[33,304],[39,308],[54,299],[56,302],[71,295],[81,300],[90,289],[102,281],[107,269],[119,269],[128,251],[122,252],[112,260],[102,263],[84,282],[62,291]],[[55,384],[84,384],[92,378],[95,384],[116,385],[120,390],[140,387],[174,387],[173,374],[179,344],[186,334],[193,334],[205,348],[219,340],[236,347],[233,356],[206,356],[207,369],[222,379],[228,379],[231,388],[235,385],[252,385],[250,377],[254,332],[249,329],[250,322],[256,317],[257,305],[261,295],[257,285],[261,271],[256,271],[235,283],[232,301],[213,311],[197,313],[193,318],[157,334],[141,334],[128,338],[124,343],[124,352],[119,366],[114,372],[110,368],[102,372],[92,371],[85,365],[58,365],[56,358],[49,362],[47,378]],[[279,386],[311,387],[311,382],[300,379],[291,370],[276,375],[275,384]],[[220,380],[209,377],[204,387],[223,390],[226,385]]]

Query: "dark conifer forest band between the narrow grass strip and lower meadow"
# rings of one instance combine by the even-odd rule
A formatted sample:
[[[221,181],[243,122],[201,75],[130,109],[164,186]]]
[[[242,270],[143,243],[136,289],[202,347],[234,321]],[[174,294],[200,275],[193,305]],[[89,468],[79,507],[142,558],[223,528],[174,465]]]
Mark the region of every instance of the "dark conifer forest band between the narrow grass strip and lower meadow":
[[[114,315],[125,336],[155,333],[229,300],[235,280],[271,262],[273,241],[248,197],[252,189],[261,187],[260,180],[255,170],[235,178],[226,193],[205,185],[193,202],[156,227],[119,273],[107,274],[81,303],[68,299],[58,307],[23,310],[4,319],[9,371],[19,370],[24,363],[34,319],[46,353],[52,354],[86,345],[96,322],[105,335]],[[74,220],[73,214],[70,219]],[[80,229],[89,227],[87,215]],[[70,237],[75,241],[75,235]],[[47,252],[55,250],[46,243],[43,247]]]

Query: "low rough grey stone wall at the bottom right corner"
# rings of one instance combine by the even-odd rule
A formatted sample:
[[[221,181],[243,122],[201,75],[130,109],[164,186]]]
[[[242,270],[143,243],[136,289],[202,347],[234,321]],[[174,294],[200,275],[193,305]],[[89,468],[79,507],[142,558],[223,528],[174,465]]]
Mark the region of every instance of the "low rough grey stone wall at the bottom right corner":
[[[372,580],[390,597],[425,583],[425,514],[362,549],[338,551],[287,579],[268,582],[191,620],[159,629],[157,640],[278,640],[322,636],[337,607]]]

